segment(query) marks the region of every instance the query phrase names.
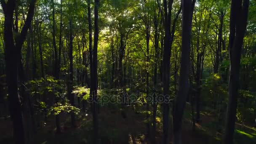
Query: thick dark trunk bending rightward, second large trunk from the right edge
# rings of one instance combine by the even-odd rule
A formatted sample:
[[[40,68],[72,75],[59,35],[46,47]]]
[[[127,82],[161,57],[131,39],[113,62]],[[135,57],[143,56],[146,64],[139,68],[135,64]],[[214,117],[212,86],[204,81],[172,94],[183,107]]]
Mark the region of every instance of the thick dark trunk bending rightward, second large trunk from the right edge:
[[[179,77],[179,91],[175,98],[173,109],[173,143],[181,144],[181,124],[189,91],[189,63],[192,16],[195,0],[181,0],[182,7],[182,33],[181,33],[181,66]]]

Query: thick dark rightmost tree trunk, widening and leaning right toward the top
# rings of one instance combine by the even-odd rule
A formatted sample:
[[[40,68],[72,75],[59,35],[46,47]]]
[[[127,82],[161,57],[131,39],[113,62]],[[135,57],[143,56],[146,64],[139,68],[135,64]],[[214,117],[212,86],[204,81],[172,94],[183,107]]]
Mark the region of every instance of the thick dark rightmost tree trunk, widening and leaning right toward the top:
[[[245,35],[249,0],[232,0],[229,21],[229,102],[227,106],[224,143],[233,144],[235,120],[237,111],[237,97],[239,95],[240,58]]]

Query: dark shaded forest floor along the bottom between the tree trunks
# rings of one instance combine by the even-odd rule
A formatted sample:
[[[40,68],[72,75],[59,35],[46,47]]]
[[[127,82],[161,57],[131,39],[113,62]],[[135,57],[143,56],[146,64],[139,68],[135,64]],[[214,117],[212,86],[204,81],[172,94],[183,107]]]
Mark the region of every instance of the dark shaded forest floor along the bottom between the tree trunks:
[[[192,131],[190,111],[186,109],[182,131],[183,144],[220,144],[221,133],[216,132],[215,117],[209,112],[202,112],[201,116],[202,122],[196,123],[196,130]],[[77,115],[77,128],[69,126],[69,117],[68,114],[61,115],[62,132],[58,135],[55,134],[55,119],[53,116],[49,117],[48,122],[35,134],[33,144],[92,144],[91,115],[87,112]],[[157,143],[161,143],[162,139],[160,117],[160,114],[157,115]],[[112,106],[102,107],[99,113],[99,133],[101,144],[150,144],[145,141],[145,114],[139,109],[134,110],[133,107],[124,109]],[[0,144],[12,144],[11,136],[10,119],[0,119]],[[256,144],[256,129],[236,123],[235,142],[236,144]]]

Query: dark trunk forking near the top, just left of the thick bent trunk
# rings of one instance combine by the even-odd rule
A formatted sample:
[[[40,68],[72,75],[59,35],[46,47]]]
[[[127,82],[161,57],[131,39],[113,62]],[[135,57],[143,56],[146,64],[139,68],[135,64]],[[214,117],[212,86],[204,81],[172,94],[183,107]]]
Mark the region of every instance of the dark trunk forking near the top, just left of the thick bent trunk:
[[[167,3],[168,2],[168,3]],[[176,28],[176,21],[181,12],[181,8],[176,13],[173,19],[173,24],[171,26],[171,10],[173,5],[173,0],[163,0],[164,11],[162,11],[160,2],[157,0],[157,4],[160,8],[161,14],[164,17],[163,26],[165,31],[164,45],[163,45],[163,96],[165,97],[165,102],[163,103],[163,144],[169,143],[169,86],[170,86],[170,60],[171,60],[171,46],[173,43],[174,32]]]

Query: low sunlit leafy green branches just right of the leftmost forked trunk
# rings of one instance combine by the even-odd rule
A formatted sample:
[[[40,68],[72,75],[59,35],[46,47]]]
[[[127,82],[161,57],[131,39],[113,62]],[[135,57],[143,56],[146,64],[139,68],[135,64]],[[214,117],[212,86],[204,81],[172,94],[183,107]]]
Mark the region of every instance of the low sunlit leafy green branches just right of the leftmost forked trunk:
[[[47,115],[59,115],[61,112],[74,112],[78,114],[80,109],[69,104],[67,98],[64,97],[64,88],[59,84],[59,80],[55,80],[51,76],[46,76],[39,80],[31,80],[26,85],[31,96],[39,101],[39,110],[47,112]],[[59,102],[53,103],[58,100]]]

